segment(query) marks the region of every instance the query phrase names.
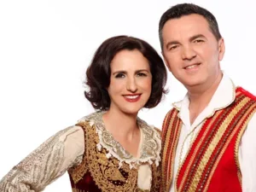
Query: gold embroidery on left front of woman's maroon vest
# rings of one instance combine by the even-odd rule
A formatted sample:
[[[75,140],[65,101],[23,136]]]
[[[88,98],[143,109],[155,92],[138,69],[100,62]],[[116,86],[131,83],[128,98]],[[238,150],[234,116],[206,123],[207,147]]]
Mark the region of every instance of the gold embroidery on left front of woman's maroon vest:
[[[102,191],[132,191],[137,188],[137,170],[130,169],[129,165],[123,164],[119,168],[119,160],[114,157],[106,157],[108,153],[105,148],[98,150],[96,148],[96,125],[89,125],[84,122],[83,125],[87,131],[86,156],[87,166],[90,174],[94,178],[96,185]]]

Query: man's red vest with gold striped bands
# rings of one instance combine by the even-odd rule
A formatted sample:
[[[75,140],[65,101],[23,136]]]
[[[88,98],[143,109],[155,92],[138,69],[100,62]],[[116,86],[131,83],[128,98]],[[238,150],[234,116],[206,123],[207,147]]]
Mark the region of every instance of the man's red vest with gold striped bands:
[[[162,130],[161,190],[168,192],[172,179],[175,179],[172,187],[178,192],[241,192],[238,148],[255,111],[256,97],[237,88],[236,99],[229,107],[205,119],[179,166],[176,178],[172,178],[173,164],[183,123],[177,116],[177,109],[167,113]]]

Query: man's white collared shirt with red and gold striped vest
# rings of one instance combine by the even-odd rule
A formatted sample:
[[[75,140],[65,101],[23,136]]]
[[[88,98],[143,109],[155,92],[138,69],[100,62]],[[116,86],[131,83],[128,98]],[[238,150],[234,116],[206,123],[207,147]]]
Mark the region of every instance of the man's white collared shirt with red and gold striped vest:
[[[162,130],[162,191],[256,191],[255,111],[256,97],[225,74],[192,125],[188,95],[174,103]]]

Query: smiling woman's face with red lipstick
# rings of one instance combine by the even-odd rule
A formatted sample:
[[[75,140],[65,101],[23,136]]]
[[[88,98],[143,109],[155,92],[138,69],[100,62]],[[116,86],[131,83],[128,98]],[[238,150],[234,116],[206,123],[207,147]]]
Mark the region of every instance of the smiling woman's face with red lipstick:
[[[137,114],[151,94],[152,74],[147,58],[137,50],[119,51],[111,61],[109,110]]]

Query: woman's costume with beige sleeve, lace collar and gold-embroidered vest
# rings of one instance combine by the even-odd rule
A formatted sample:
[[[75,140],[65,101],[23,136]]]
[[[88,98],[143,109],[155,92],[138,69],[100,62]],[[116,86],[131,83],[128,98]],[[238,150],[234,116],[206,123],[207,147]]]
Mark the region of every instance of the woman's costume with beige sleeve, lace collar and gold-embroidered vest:
[[[65,172],[73,192],[159,191],[160,131],[137,119],[141,141],[133,157],[106,130],[102,114],[50,137],[3,177],[0,191],[42,191]]]

